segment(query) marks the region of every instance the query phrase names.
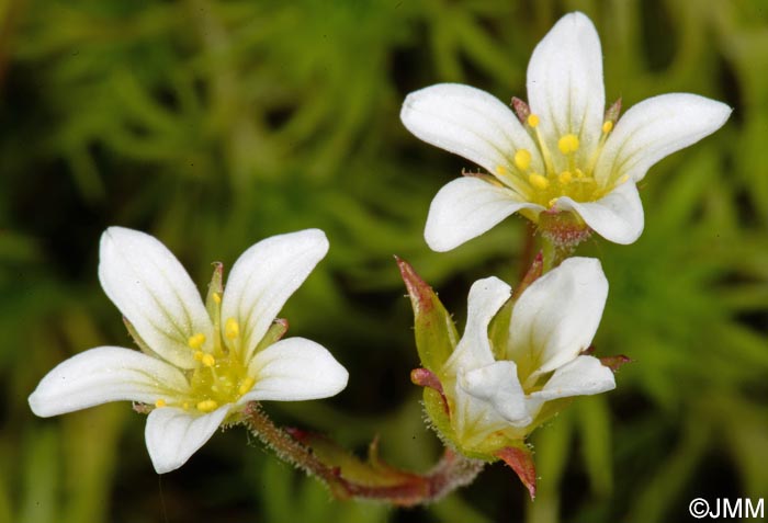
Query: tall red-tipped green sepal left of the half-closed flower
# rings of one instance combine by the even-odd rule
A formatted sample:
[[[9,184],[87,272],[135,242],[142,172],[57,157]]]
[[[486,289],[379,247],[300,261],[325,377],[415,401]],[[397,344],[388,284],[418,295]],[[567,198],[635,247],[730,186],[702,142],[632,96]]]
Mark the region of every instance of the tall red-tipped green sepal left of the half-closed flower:
[[[414,308],[416,350],[421,366],[439,375],[459,343],[456,327],[432,287],[406,261],[397,257],[395,260]]]

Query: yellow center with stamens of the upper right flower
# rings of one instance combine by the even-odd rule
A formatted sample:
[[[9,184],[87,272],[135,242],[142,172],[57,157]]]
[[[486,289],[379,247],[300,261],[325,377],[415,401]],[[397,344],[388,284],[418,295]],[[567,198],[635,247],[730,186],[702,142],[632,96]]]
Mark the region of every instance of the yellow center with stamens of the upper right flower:
[[[496,168],[496,174],[499,179],[523,195],[529,202],[546,208],[553,207],[561,196],[568,196],[576,202],[595,202],[628,180],[624,177],[618,182],[601,185],[592,175],[606,138],[613,129],[612,121],[607,120],[602,124],[600,143],[586,163],[577,157],[581,146],[578,136],[571,133],[560,136],[557,150],[551,151],[541,136],[539,123],[539,116],[535,114],[529,114],[526,120],[527,127],[544,160],[544,172],[537,172],[531,169],[532,156],[531,151],[527,149],[515,151],[512,157],[513,169],[508,169],[505,166],[497,166]],[[561,166],[561,168],[558,169],[555,166]]]

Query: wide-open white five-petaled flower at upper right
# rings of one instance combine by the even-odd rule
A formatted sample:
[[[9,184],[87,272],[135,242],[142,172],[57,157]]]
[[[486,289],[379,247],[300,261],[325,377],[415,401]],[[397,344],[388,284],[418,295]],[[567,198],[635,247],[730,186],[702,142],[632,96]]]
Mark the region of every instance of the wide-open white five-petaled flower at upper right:
[[[535,221],[546,209],[575,213],[606,239],[632,243],[644,221],[635,184],[731,114],[723,103],[686,93],[645,100],[618,122],[603,114],[600,39],[581,13],[563,16],[533,50],[528,96],[524,124],[468,86],[437,84],[406,98],[400,118],[408,130],[490,174],[440,190],[425,229],[431,249],[451,250],[512,213]]]

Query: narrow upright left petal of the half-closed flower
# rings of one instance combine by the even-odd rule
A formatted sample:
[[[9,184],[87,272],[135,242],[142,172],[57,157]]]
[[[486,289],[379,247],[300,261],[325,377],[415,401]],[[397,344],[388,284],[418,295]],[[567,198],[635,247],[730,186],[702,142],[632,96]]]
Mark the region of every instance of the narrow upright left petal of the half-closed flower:
[[[466,328],[445,363],[449,373],[459,375],[494,362],[488,325],[510,294],[511,287],[495,276],[472,284],[467,298]]]

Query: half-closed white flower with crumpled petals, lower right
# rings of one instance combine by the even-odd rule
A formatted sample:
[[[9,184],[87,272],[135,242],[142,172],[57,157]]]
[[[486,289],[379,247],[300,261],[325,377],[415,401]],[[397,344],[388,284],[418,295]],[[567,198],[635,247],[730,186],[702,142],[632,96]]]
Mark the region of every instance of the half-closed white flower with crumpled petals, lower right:
[[[441,373],[454,402],[451,423],[464,446],[497,431],[526,429],[545,401],[615,387],[611,369],[581,354],[608,296],[598,260],[571,258],[533,282],[512,307],[506,345],[493,346],[488,325],[510,291],[497,277],[474,283],[464,336]]]

